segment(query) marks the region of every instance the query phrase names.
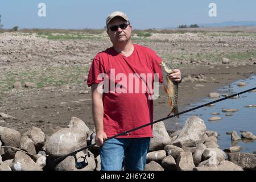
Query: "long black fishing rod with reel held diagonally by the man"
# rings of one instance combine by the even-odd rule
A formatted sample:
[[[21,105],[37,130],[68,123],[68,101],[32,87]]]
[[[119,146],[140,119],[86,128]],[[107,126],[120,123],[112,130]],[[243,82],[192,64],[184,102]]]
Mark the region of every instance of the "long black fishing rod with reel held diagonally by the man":
[[[169,119],[169,118],[177,117],[178,115],[181,115],[181,114],[184,114],[184,113],[188,113],[189,111],[192,111],[192,110],[200,109],[201,107],[205,107],[205,106],[208,106],[208,105],[210,105],[210,104],[214,104],[214,103],[216,103],[216,102],[224,101],[224,100],[226,100],[226,99],[228,99],[228,98],[232,98],[232,97],[236,97],[236,96],[240,97],[241,94],[246,93],[246,92],[250,92],[250,91],[255,90],[255,89],[256,89],[256,87],[251,88],[251,89],[248,89],[248,90],[245,90],[245,91],[243,91],[243,92],[238,92],[238,93],[236,93],[236,94],[232,94],[232,95],[230,95],[230,96],[226,96],[226,97],[224,97],[224,98],[220,98],[220,99],[218,99],[218,100],[215,100],[215,101],[212,101],[212,102],[208,102],[207,104],[203,104],[203,105],[200,105],[200,106],[197,106],[197,107],[193,107],[193,108],[191,108],[191,109],[182,111],[182,112],[180,112],[180,113],[173,114],[173,115],[170,115],[170,116],[168,116],[168,117],[165,117],[165,118],[158,119],[158,120],[156,120],[156,121],[147,123],[147,124],[145,124],[145,125],[135,127],[134,129],[124,131],[123,133],[114,135],[113,137],[106,138],[106,139],[104,140],[104,142],[105,142],[106,140],[110,140],[110,139],[119,137],[119,136],[121,136],[121,135],[126,135],[126,134],[130,133],[131,131],[135,131],[135,130],[141,129],[142,127],[146,127],[146,126],[149,126],[149,125],[153,125],[153,124],[155,124],[155,123],[158,123],[158,122],[160,122],[160,121],[164,121],[164,120]],[[89,146],[80,148],[79,150],[76,150],[76,151],[71,152],[71,153],[69,153],[69,154],[67,154],[67,155],[64,155],[64,156],[61,156],[61,157],[59,157],[59,158],[54,159],[53,162],[59,162],[60,160],[63,160],[63,159],[65,159],[65,158],[67,158],[68,156],[74,156],[75,162],[76,162],[76,168],[77,168],[77,169],[84,168],[85,166],[88,165],[88,162],[87,162],[87,161],[85,162],[85,159],[86,159],[86,156],[90,157],[89,152],[88,152],[88,155],[85,155],[85,157],[81,157],[81,158],[84,158],[84,161],[82,161],[82,162],[77,162],[76,154],[77,154],[77,152],[80,152],[80,151],[82,151],[82,150],[86,150],[87,148],[93,147],[93,146],[95,146],[95,145],[96,145],[96,143],[93,143],[93,144],[90,144]]]

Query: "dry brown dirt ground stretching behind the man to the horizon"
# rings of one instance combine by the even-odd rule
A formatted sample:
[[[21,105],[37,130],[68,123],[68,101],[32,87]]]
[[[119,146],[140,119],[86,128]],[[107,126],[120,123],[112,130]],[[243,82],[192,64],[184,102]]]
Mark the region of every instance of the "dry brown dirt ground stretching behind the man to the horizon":
[[[256,28],[244,34],[207,31],[152,34],[148,38],[135,35],[133,43],[154,49],[164,61],[181,70],[184,81],[179,85],[178,104],[183,111],[210,92],[255,75],[255,32]],[[90,88],[83,80],[94,55],[111,46],[108,37],[105,33],[83,34],[88,36],[63,40],[39,35],[0,34],[0,113],[11,116],[0,117],[0,126],[21,133],[36,126],[50,135],[67,127],[71,117],[77,117],[93,129]],[[223,64],[222,57],[230,63]],[[17,81],[22,88],[13,88]],[[35,82],[37,88],[25,88],[26,81]],[[163,85],[159,94],[154,101],[155,119],[166,117],[170,111]]]

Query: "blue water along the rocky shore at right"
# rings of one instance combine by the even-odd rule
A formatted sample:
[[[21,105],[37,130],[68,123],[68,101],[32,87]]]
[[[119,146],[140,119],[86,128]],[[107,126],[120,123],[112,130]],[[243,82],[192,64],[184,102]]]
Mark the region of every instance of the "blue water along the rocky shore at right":
[[[238,82],[246,82],[246,86],[237,86]],[[228,95],[242,92],[256,86],[256,76],[252,76],[246,80],[237,80],[232,84],[225,86],[218,90],[218,93]],[[222,98],[224,96],[221,96]],[[219,99],[219,98],[217,98]],[[192,104],[191,107],[186,109],[191,109],[192,107],[200,106],[206,104],[207,102],[212,102],[214,99],[205,98],[202,102]],[[218,133],[218,145],[222,150],[228,148],[232,145],[241,146],[241,152],[253,153],[256,151],[256,140],[238,140],[237,142],[232,142],[231,135],[226,134],[226,132],[232,132],[233,130],[241,137],[242,131],[250,131],[256,135],[256,107],[245,107],[247,105],[256,105],[256,92],[247,92],[241,94],[240,98],[229,98],[227,100],[217,102],[214,106],[206,106],[200,109],[190,111],[183,115],[180,115],[179,119],[176,119],[177,123],[180,125],[180,129],[184,126],[185,119],[191,115],[197,115],[204,120],[207,130],[217,131]],[[226,116],[227,113],[222,112],[222,109],[238,109],[237,112],[232,113],[232,116]],[[217,112],[219,115],[212,115],[210,113]],[[208,121],[209,118],[213,116],[221,117],[222,120],[219,121]],[[174,121],[174,118],[171,119]],[[173,130],[168,127],[166,121],[167,130]]]

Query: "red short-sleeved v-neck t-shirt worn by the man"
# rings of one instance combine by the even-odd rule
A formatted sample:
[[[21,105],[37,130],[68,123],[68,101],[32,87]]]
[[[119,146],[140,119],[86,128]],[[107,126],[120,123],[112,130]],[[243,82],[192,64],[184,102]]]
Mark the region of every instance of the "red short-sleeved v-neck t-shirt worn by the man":
[[[153,121],[153,101],[148,99],[152,90],[146,89],[146,92],[142,92],[142,84],[150,87],[150,82],[147,81],[151,76],[153,86],[150,88],[154,88],[154,73],[158,73],[159,82],[163,82],[159,65],[162,60],[150,48],[137,44],[133,46],[134,51],[129,57],[117,53],[113,47],[108,48],[94,57],[90,67],[88,86],[99,84],[106,79],[98,78],[100,73],[108,76],[106,82],[109,85],[104,85],[108,92],[103,94],[104,131],[108,137]],[[138,78],[138,75],[141,77]],[[153,137],[152,127],[146,126],[118,138],[141,137]]]

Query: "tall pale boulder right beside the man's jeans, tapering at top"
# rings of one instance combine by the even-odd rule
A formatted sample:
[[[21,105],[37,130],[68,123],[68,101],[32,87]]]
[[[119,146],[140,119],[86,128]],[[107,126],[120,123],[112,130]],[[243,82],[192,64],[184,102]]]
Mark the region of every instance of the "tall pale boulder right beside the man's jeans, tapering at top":
[[[164,122],[158,122],[153,125],[154,138],[150,140],[150,150],[163,150],[164,146],[172,144],[172,140],[169,137]]]

